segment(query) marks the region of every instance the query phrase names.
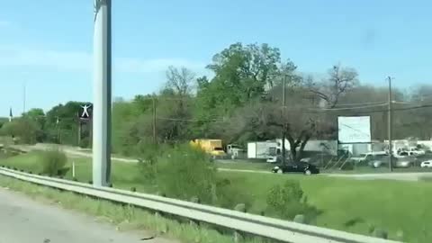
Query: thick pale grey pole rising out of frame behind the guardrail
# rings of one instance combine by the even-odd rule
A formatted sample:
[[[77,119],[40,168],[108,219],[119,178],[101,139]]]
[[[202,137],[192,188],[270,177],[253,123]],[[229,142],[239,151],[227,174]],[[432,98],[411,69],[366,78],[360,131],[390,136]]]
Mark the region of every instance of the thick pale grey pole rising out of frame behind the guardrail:
[[[111,175],[111,0],[94,0],[93,184]]]

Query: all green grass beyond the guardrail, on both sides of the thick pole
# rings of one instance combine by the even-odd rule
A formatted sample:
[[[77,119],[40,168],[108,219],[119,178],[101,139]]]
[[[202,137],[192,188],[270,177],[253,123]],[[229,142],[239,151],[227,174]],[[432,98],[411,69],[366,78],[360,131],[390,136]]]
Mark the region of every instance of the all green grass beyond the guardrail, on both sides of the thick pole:
[[[17,157],[0,159],[0,165],[36,170],[37,154],[29,153]],[[69,165],[70,161],[69,159]],[[88,158],[74,158],[76,177],[87,182],[91,178]],[[71,178],[69,170],[67,177]],[[287,178],[299,180],[309,202],[316,206],[320,215],[318,226],[340,229],[360,234],[369,234],[369,229],[385,229],[390,238],[403,231],[403,240],[408,242],[432,242],[432,184],[428,181],[402,182],[390,180],[354,180],[325,175],[274,175],[239,172],[220,172],[231,180],[240,195],[238,203],[247,203],[249,212],[266,211],[266,193],[274,184],[282,184]],[[134,186],[141,192],[156,193],[157,188],[139,183],[139,170],[135,164],[112,163],[114,187],[130,189]],[[352,222],[358,223],[352,225]]]

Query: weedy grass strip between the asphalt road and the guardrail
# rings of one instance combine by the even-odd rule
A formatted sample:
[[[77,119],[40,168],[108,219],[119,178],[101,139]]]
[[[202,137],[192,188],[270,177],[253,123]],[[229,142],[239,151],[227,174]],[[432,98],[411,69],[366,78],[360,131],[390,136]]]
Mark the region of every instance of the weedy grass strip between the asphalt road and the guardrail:
[[[92,199],[76,193],[60,192],[48,187],[14,180],[0,175],[0,185],[30,195],[33,199],[55,202],[63,208],[84,211],[100,221],[108,221],[121,231],[146,229],[165,238],[176,238],[182,242],[228,243],[232,237],[221,234],[211,226],[196,227],[187,220],[167,219],[130,205]],[[247,243],[271,242],[263,238],[246,238]]]

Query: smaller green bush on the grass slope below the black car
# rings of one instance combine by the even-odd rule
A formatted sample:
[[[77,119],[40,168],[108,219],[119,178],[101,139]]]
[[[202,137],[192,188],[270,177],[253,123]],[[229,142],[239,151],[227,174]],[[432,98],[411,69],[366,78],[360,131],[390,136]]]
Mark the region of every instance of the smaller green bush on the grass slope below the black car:
[[[318,211],[308,204],[298,181],[287,180],[284,184],[274,185],[266,198],[268,211],[278,218],[293,220],[302,214],[306,221],[314,219]]]

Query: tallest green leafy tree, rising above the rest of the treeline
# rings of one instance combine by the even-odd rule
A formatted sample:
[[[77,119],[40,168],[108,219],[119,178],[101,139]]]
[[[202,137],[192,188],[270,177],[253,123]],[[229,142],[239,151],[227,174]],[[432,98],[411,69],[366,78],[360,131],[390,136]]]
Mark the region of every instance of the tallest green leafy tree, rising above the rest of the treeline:
[[[290,61],[282,63],[279,49],[267,44],[235,43],[214,55],[208,68],[215,76],[211,81],[205,76],[197,79],[194,107],[202,137],[214,136],[220,117],[228,118],[238,107],[265,96],[277,80],[292,75],[296,67]]]

